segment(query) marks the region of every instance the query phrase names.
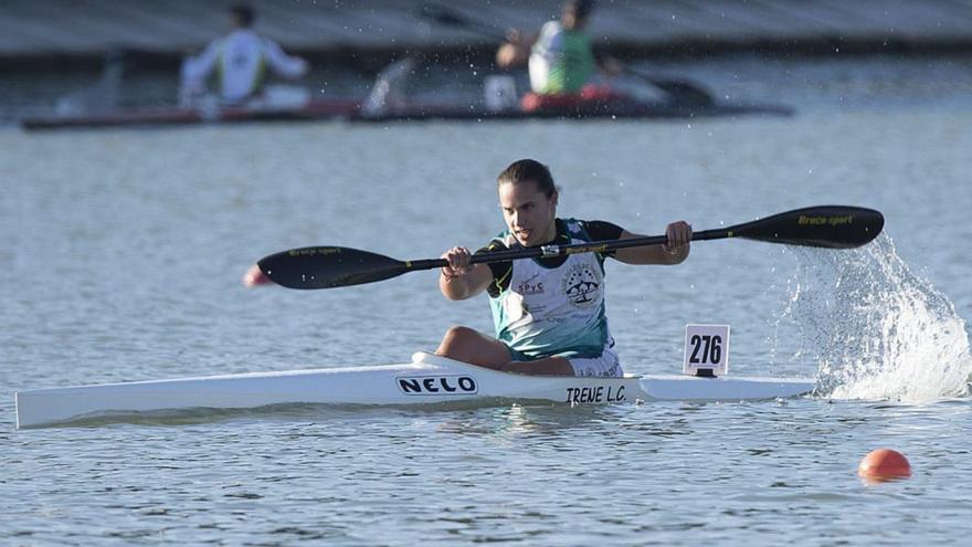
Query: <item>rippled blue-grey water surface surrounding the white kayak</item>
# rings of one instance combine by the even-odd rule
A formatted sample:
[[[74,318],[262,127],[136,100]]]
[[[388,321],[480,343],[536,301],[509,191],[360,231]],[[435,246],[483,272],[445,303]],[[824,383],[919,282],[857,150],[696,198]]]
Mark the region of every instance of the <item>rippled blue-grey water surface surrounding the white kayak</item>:
[[[968,62],[698,66],[792,118],[0,129],[0,539],[7,545],[955,545],[972,533]],[[494,178],[535,157],[559,213],[661,233],[809,204],[881,210],[858,251],[701,242],[610,263],[628,371],[674,372],[686,323],[732,326],[739,375],[817,376],[758,403],[447,411],[294,407],[14,430],[13,392],[395,362],[484,298],[434,273],[245,290],[256,259],[399,259],[487,241]],[[868,485],[892,446],[907,481]]]

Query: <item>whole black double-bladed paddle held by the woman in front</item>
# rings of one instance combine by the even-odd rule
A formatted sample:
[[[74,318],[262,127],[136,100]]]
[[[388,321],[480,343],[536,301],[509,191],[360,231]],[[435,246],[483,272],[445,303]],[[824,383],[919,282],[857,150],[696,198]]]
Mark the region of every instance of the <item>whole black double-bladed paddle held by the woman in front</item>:
[[[693,241],[743,238],[789,245],[854,249],[880,233],[885,219],[873,209],[844,206],[807,207],[765,219],[716,230],[695,232]],[[665,235],[593,241],[572,245],[543,245],[475,254],[473,264],[564,254],[605,252],[665,243]],[[289,288],[332,288],[373,283],[406,272],[446,266],[445,259],[399,261],[342,246],[307,246],[264,257],[257,265],[274,283]]]

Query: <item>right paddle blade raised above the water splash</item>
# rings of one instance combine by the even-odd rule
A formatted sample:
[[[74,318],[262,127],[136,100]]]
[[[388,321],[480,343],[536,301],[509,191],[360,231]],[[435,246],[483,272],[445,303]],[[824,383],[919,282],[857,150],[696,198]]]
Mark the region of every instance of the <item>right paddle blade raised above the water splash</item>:
[[[884,215],[874,209],[823,206],[731,227],[728,235],[790,245],[854,249],[877,238],[884,225]]]

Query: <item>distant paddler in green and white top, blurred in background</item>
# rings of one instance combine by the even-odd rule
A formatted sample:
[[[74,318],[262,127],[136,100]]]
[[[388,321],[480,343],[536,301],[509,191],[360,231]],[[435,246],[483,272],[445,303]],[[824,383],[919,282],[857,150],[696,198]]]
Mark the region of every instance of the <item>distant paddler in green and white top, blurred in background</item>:
[[[599,61],[584,32],[593,7],[593,0],[567,1],[560,20],[543,24],[539,35],[510,30],[507,42],[496,53],[496,64],[511,69],[526,62],[530,87],[541,95],[579,94],[591,83],[598,67],[611,75],[619,74],[621,64],[606,56]]]

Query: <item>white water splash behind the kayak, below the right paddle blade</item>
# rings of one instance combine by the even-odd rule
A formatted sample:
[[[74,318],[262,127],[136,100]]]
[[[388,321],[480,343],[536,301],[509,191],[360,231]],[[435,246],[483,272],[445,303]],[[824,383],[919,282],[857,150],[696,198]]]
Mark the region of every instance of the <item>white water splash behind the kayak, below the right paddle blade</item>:
[[[818,364],[818,395],[908,402],[970,395],[965,322],[911,273],[889,236],[854,251],[796,255],[781,320],[799,333],[795,357]]]

